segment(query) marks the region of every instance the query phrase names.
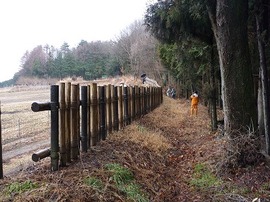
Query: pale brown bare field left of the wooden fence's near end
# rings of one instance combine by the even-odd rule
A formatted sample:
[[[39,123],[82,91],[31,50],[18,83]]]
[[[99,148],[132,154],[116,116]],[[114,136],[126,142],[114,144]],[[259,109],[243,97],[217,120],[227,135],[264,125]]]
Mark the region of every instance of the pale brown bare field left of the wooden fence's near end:
[[[24,169],[32,152],[49,146],[50,114],[31,110],[32,102],[49,100],[49,86],[0,88],[5,175]]]

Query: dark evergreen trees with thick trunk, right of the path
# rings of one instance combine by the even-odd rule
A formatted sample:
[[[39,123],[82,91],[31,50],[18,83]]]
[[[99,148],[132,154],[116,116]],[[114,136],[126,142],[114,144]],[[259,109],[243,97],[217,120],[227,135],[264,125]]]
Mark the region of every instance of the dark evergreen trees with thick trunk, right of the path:
[[[145,16],[147,29],[162,44],[162,62],[175,79],[201,92],[207,88],[204,96],[211,105],[213,129],[217,127],[215,109],[221,84],[224,130],[232,140],[227,148],[231,156],[233,145],[241,145],[237,137],[247,134],[248,138],[253,132],[265,136],[265,151],[270,154],[270,51],[265,49],[270,42],[269,16],[267,0],[158,0]],[[262,99],[257,102],[257,98]],[[244,148],[247,145],[239,149],[239,145],[232,161],[244,164],[252,151]],[[259,153],[260,149],[253,151]],[[252,162],[257,160],[254,156]]]

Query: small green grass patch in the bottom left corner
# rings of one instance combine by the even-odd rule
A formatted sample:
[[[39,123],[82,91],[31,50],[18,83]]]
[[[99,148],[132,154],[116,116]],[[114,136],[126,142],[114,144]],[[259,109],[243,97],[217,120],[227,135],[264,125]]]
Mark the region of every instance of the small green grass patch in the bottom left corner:
[[[7,186],[5,189],[5,192],[7,194],[18,194],[23,193],[32,189],[38,188],[38,184],[34,183],[30,180],[27,180],[25,182],[13,182]]]

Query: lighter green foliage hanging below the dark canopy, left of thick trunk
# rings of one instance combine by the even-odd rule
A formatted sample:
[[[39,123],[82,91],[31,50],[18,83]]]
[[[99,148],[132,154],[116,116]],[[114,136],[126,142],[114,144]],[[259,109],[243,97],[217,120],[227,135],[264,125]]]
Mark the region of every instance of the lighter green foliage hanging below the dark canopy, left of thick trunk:
[[[209,45],[187,38],[174,44],[161,44],[159,57],[171,75],[181,81],[182,87],[190,89],[195,86],[202,92],[202,78],[209,80],[210,77],[210,50]]]

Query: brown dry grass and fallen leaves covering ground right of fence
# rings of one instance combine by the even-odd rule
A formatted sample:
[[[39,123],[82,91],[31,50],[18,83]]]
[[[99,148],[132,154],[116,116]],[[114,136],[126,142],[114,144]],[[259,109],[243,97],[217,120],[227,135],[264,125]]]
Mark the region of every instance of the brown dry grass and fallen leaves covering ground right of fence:
[[[6,176],[0,181],[0,201],[270,200],[270,169],[264,163],[215,176],[224,140],[210,132],[209,122],[204,106],[198,117],[190,117],[188,101],[165,97],[153,112],[59,171],[50,171],[47,158]],[[112,163],[132,172],[146,199],[130,199],[119,190],[106,169]],[[90,177],[100,185],[86,184]],[[30,188],[18,191],[18,182]]]

